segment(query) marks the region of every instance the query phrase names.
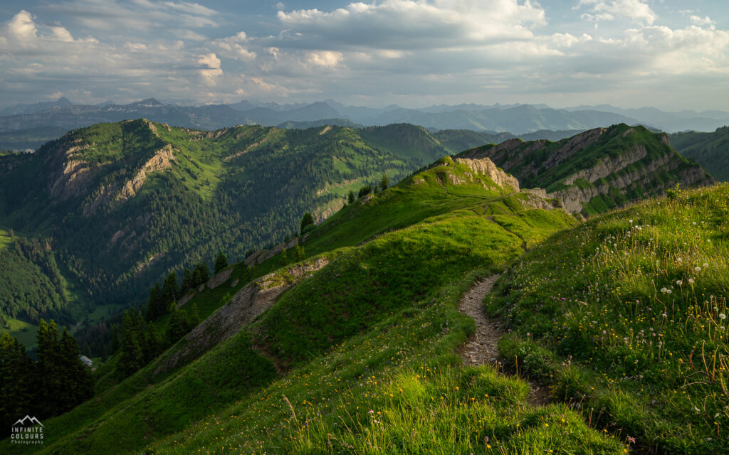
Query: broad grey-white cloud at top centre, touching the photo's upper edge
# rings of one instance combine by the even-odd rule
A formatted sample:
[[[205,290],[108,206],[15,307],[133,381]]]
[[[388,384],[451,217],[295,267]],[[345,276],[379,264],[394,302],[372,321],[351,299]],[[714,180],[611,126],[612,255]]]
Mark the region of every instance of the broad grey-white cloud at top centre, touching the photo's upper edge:
[[[326,42],[342,49],[438,49],[531,39],[531,28],[546,25],[544,9],[529,0],[384,0],[332,12],[279,11],[277,17],[292,43]]]

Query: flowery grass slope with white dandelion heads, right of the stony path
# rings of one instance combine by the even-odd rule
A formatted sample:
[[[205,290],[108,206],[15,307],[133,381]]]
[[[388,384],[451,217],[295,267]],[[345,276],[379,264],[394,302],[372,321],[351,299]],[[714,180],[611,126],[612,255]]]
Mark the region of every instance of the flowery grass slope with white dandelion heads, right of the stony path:
[[[646,451],[725,452],[728,202],[685,191],[525,255],[487,301],[515,331],[502,355]]]

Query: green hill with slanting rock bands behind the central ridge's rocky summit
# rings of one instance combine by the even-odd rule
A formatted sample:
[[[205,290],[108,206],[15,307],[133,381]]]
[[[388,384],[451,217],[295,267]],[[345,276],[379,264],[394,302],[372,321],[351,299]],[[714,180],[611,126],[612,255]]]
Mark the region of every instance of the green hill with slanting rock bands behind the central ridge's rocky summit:
[[[557,142],[518,139],[464,151],[458,157],[489,157],[528,187],[561,198],[585,215],[665,194],[676,184],[714,182],[700,165],[668,144],[668,135],[617,124]]]

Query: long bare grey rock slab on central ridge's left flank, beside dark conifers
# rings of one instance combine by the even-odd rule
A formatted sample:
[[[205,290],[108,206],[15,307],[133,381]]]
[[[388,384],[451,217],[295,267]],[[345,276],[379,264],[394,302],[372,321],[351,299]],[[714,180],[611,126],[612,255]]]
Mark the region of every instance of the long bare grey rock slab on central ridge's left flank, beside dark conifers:
[[[314,258],[289,266],[283,272],[265,275],[244,286],[235,293],[228,304],[192,329],[171,355],[160,360],[152,374],[157,375],[189,363],[211,347],[229,339],[259,314],[273,306],[282,293],[327,264],[329,260],[326,258]]]

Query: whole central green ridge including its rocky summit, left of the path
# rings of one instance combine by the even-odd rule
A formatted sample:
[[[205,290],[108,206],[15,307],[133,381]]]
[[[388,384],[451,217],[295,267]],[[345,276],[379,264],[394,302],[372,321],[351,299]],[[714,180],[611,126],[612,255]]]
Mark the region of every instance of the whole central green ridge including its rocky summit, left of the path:
[[[284,447],[292,453],[418,447],[443,453],[453,444],[483,453],[486,435],[494,447],[533,445],[537,438],[537,446],[617,453],[620,443],[588,428],[564,405],[529,404],[523,379],[489,366],[464,368],[456,355],[473,331],[456,310],[461,292],[523,248],[576,223],[564,210],[532,208],[544,202],[516,192],[514,183],[488,160],[444,159],[348,205],[304,244],[307,251],[316,241],[324,250],[321,245],[332,245],[329,253],[308,253],[304,262],[256,282],[259,293],[288,289],[275,303],[268,300],[260,317],[244,310],[250,285],[230,303],[223,299],[219,312],[227,316],[212,314],[142,371],[44,422],[40,453],[270,453]],[[417,208],[438,201],[440,214]],[[388,226],[386,214],[395,207],[415,221]],[[408,207],[416,213],[408,216]],[[384,224],[370,229],[364,242],[346,234],[364,220]],[[284,284],[299,266],[310,272],[294,278],[293,287]],[[222,321],[231,320],[238,328],[226,329],[221,339]],[[203,341],[210,337],[213,344]],[[173,358],[182,364],[170,363]],[[443,419],[426,419],[431,412]],[[558,441],[562,430],[542,428],[560,419],[571,430]]]

